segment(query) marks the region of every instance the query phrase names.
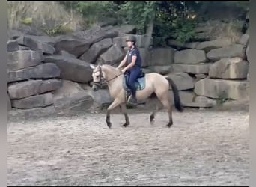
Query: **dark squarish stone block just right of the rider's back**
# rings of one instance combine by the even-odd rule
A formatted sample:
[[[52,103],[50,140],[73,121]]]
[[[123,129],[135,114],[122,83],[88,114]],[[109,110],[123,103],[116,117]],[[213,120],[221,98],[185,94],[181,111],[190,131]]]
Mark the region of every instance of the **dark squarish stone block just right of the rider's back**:
[[[171,65],[174,62],[175,50],[169,48],[156,48],[152,49],[150,65],[151,66],[165,66]]]

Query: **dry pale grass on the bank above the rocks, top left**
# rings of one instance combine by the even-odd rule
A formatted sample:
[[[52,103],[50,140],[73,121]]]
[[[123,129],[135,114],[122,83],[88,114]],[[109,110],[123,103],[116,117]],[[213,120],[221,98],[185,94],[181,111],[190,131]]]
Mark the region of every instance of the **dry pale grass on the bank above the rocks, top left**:
[[[7,16],[8,29],[31,25],[45,32],[56,28],[79,31],[84,25],[81,15],[68,12],[58,1],[8,1]]]

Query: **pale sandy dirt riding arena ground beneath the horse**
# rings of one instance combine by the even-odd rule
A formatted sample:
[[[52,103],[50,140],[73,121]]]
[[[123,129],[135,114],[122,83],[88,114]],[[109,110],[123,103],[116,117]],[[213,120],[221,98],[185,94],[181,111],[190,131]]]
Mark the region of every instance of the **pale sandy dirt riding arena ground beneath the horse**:
[[[249,186],[249,111],[150,111],[8,123],[8,186]]]

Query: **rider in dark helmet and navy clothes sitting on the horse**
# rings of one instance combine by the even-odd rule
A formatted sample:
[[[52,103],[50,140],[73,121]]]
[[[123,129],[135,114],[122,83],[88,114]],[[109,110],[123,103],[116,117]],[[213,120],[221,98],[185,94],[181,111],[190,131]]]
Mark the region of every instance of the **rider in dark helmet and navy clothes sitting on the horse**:
[[[132,92],[132,96],[128,100],[128,102],[132,102],[133,104],[137,103],[136,99],[136,88],[135,88],[135,80],[141,73],[141,55],[139,54],[138,48],[135,46],[136,38],[134,36],[127,37],[127,46],[129,50],[125,58],[118,66],[118,69],[126,65],[122,71],[122,73],[128,73],[129,79],[127,82],[127,86]]]

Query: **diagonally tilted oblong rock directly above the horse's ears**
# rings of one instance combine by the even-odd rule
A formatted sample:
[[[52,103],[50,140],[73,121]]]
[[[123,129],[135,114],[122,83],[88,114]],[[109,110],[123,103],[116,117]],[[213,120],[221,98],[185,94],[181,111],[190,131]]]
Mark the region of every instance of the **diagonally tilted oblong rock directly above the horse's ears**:
[[[101,40],[100,42],[94,43],[87,52],[81,55],[79,59],[88,63],[94,63],[99,55],[106,52],[110,46],[112,46],[112,40],[110,38]]]

